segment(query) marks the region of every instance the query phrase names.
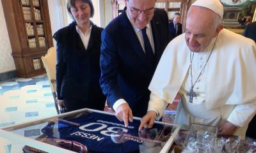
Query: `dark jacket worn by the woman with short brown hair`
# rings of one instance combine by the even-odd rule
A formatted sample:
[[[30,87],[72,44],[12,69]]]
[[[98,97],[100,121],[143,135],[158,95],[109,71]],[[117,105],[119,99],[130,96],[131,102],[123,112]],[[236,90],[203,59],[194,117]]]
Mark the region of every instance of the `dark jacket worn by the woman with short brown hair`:
[[[58,99],[88,101],[87,108],[104,109],[106,98],[99,85],[101,27],[92,23],[87,50],[76,31],[76,22],[57,31],[56,91]]]

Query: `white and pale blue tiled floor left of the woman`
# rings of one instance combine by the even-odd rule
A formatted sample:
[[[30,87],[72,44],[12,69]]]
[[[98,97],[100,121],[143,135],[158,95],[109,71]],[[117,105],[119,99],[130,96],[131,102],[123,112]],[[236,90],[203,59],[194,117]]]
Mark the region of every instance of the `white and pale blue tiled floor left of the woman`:
[[[47,75],[0,82],[0,114],[0,128],[57,115]],[[22,150],[19,145],[0,138],[0,152]]]

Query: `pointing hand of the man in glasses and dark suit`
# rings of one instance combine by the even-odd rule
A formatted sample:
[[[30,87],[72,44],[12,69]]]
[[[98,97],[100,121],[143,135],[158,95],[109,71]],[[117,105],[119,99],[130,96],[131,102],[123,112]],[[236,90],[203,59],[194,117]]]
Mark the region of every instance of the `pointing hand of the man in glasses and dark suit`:
[[[128,119],[132,122],[132,110],[128,104],[124,103],[116,109],[116,118],[121,122],[124,121],[125,127],[128,127]]]

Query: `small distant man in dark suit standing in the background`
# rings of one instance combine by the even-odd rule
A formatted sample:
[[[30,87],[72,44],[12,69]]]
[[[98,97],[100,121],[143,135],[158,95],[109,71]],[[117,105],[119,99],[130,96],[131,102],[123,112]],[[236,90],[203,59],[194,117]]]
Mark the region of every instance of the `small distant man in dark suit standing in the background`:
[[[182,24],[180,24],[180,13],[175,12],[173,21],[169,23],[170,40],[182,34]]]

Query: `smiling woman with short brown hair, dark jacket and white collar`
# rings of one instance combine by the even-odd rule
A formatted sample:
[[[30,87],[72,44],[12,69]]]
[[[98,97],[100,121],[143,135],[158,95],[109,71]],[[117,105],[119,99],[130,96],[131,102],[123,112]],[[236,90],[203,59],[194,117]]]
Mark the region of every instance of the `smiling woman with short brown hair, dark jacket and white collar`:
[[[57,31],[56,90],[58,104],[67,112],[81,108],[104,110],[106,98],[99,85],[102,28],[90,21],[91,0],[68,0],[72,24]]]

